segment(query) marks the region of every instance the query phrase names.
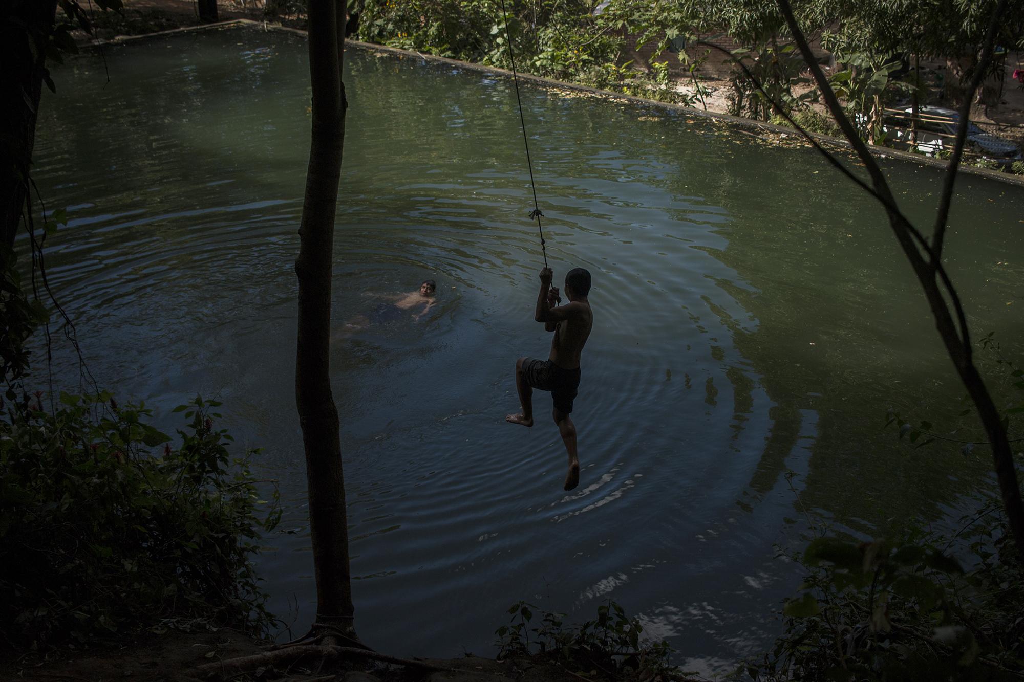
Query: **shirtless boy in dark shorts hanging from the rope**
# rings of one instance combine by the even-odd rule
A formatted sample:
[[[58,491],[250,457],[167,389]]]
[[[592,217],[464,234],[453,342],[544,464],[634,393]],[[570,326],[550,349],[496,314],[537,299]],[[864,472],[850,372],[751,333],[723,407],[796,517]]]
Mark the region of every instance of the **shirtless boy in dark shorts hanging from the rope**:
[[[594,325],[587,294],[590,293],[590,272],[582,267],[565,275],[565,295],[569,302],[556,306],[558,288],[551,286],[550,267],[541,270],[541,292],[537,296],[534,319],[544,323],[544,331],[554,332],[551,354],[547,360],[520,357],[515,363],[515,387],[519,391],[522,412],[509,415],[505,421],[523,426],[534,425],[534,389],[551,391],[555,409],[552,416],[569,456],[569,472],[565,489],[580,483],[580,460],[577,458],[575,425],[569,418],[572,399],[580,386],[580,355]]]

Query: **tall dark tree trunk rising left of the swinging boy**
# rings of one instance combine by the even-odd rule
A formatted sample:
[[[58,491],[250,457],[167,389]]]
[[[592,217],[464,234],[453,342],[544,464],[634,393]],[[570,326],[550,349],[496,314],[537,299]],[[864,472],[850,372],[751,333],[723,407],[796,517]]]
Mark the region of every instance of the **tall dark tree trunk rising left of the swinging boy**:
[[[306,453],[316,622],[354,636],[345,481],[329,353],[334,220],[345,133],[346,102],[341,84],[344,39],[338,30],[344,25],[344,0],[309,1],[312,135],[295,261],[299,279],[295,397]]]

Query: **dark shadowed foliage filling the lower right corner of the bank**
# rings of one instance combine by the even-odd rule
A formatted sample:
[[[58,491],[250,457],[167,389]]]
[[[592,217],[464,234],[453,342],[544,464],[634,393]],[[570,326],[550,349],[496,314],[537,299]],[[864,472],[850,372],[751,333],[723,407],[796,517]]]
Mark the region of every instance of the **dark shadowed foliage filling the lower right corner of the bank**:
[[[764,682],[1019,679],[1024,571],[996,509],[965,517],[952,538],[920,526],[893,541],[817,538],[791,557],[808,574],[782,608],[785,634],[738,673]],[[949,553],[957,540],[969,568]]]

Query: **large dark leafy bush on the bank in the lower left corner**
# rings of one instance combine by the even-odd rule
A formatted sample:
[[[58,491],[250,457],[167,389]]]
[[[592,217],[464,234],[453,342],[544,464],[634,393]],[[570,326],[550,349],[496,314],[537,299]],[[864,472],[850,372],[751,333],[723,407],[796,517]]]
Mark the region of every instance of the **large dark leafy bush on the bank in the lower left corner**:
[[[61,393],[52,414],[40,392],[3,404],[5,641],[88,641],[161,619],[267,624],[250,556],[281,512],[258,513],[249,455],[232,459],[231,436],[214,428],[219,404],[176,409],[187,420],[177,447],[144,406],[109,393]]]

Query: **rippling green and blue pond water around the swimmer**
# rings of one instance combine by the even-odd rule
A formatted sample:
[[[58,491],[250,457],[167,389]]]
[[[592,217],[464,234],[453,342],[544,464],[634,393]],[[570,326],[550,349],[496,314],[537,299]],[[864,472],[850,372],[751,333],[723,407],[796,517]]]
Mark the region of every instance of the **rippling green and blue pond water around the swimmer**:
[[[168,429],[170,408],[217,396],[240,446],[262,447],[287,508],[259,570],[298,632],[315,603],[293,389],[305,49],[230,30],[75,59],[44,98],[35,162],[47,208],[71,217],[49,275],[98,382]],[[428,318],[332,346],[371,645],[490,655],[518,599],[582,622],[610,598],[677,663],[723,670],[781,630],[772,611],[800,571],[775,546],[802,546],[803,508],[866,537],[952,523],[991,485],[984,447],[912,451],[882,429],[892,407],[981,438],[955,418],[963,392],[882,211],[818,156],[523,85],[548,259],[559,283],[574,266],[594,282],[582,481],[562,492],[550,398],[532,430],[504,422],[515,358],[549,344],[511,82],[354,48],[345,68],[339,330],[382,294],[439,290]],[[930,225],[940,173],[884,163]],[[1024,190],[957,188],[949,270],[976,334],[1020,358]],[[54,372],[77,387],[67,346]]]

